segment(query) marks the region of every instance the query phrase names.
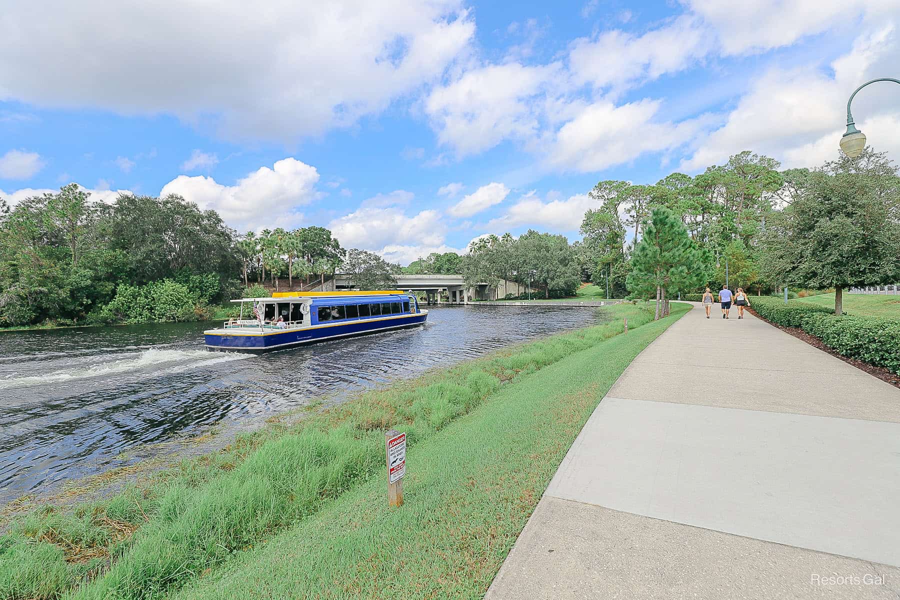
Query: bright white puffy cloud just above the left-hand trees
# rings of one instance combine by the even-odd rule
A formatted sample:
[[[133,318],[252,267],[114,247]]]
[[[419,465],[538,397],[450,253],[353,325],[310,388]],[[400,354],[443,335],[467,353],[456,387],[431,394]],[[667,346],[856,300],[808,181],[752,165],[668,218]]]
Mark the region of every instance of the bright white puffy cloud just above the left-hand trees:
[[[298,207],[316,197],[318,181],[315,167],[289,157],[277,161],[272,168],[259,167],[234,185],[219,184],[209,176],[178,175],[159,194],[175,193],[204,210],[216,210],[238,230],[290,228],[302,219]]]

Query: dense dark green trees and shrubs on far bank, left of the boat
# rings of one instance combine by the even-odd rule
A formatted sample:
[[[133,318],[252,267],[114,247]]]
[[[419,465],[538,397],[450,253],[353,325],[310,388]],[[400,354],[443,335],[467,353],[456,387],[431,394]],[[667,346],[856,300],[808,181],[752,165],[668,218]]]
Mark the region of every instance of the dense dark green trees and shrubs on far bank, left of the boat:
[[[122,194],[105,204],[69,184],[0,210],[4,326],[116,320],[104,309],[122,285],[160,304],[190,298],[190,312],[202,312],[236,293],[237,269],[234,232],[215,211],[175,195]]]

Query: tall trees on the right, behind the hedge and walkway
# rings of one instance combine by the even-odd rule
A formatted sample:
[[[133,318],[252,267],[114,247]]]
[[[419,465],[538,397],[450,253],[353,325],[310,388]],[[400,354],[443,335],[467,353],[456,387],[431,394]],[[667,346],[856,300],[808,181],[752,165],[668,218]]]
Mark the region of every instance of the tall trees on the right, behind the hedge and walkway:
[[[575,246],[585,273],[598,284],[608,278],[616,295],[666,298],[725,282],[757,293],[835,288],[840,313],[842,289],[900,279],[900,178],[871,149],[812,171],[779,171],[772,158],[745,151],[695,177],[601,181],[590,195],[600,206],[585,214]],[[642,247],[650,227],[674,230],[671,218],[682,226],[677,240]],[[678,250],[685,240],[691,247]],[[655,253],[659,277],[669,252],[698,281],[671,273],[648,287],[648,256]]]

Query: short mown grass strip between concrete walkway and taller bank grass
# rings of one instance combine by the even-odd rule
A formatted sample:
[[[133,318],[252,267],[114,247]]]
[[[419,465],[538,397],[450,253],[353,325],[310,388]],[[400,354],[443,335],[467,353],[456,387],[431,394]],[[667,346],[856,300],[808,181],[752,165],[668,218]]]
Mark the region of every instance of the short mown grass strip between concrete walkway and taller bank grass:
[[[686,310],[514,381],[412,448],[401,508],[374,477],[175,597],[481,598],[590,413]]]

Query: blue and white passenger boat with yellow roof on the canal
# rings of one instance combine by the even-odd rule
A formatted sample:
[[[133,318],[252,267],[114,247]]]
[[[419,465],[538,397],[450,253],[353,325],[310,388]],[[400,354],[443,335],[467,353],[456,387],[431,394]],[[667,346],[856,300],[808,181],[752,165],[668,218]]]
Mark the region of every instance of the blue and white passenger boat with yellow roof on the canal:
[[[240,317],[203,332],[211,350],[265,352],[414,327],[428,318],[416,297],[400,290],[276,292],[231,301],[240,302]]]

